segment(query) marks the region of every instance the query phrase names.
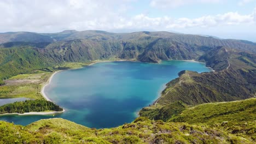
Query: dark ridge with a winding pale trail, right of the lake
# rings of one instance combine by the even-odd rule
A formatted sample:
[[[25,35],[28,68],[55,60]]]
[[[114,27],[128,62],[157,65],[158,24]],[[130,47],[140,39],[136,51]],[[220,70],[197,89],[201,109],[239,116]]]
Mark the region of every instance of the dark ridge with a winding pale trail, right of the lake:
[[[166,84],[156,105],[179,100],[187,105],[197,105],[254,97],[255,58],[253,53],[228,52],[224,47],[217,47],[199,58],[216,68],[216,72],[182,71],[177,79]]]

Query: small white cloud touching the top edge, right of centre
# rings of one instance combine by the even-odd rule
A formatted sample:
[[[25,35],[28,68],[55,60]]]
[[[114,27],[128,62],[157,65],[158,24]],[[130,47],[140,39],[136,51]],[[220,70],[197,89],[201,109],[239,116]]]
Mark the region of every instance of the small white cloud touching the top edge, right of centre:
[[[152,0],[150,6],[154,8],[177,8],[186,4],[219,3],[220,0]]]

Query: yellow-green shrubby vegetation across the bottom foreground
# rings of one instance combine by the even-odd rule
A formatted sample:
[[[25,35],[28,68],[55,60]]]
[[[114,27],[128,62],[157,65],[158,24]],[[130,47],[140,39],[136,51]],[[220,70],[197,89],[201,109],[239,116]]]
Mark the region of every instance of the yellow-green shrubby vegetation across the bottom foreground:
[[[86,128],[61,118],[42,119],[27,126],[0,122],[2,143],[253,143],[207,125],[150,121],[134,122],[111,129]]]

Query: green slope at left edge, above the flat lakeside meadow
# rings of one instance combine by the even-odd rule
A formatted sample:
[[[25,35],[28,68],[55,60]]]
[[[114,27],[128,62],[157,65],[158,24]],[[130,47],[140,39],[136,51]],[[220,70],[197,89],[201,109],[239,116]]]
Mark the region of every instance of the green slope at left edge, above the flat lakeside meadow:
[[[0,81],[37,69],[47,70],[62,62],[48,50],[29,46],[0,49],[0,56]]]

